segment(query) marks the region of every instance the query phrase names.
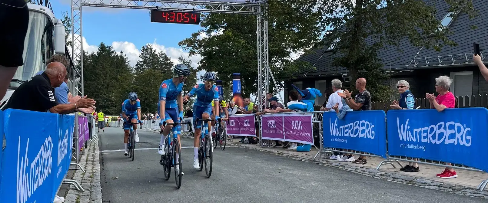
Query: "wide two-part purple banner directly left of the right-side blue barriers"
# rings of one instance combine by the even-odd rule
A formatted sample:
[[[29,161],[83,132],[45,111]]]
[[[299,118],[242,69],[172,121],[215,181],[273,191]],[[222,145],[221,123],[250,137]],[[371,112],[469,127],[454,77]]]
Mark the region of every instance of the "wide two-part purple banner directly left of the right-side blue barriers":
[[[312,117],[311,113],[264,114],[263,139],[313,145]]]

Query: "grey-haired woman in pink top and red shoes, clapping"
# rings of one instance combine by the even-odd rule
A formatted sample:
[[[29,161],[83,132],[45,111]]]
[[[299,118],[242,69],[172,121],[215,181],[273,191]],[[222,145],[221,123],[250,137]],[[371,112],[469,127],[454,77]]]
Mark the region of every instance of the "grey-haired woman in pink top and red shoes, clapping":
[[[441,112],[445,109],[454,108],[456,99],[454,98],[454,94],[449,92],[451,83],[452,79],[446,75],[435,78],[435,92],[439,93],[439,95],[434,96],[434,94],[426,93],[426,98],[430,101],[430,109],[436,109]],[[447,163],[447,166],[452,165]],[[439,178],[456,178],[457,173],[453,168],[446,167],[442,173],[439,173],[436,176]]]

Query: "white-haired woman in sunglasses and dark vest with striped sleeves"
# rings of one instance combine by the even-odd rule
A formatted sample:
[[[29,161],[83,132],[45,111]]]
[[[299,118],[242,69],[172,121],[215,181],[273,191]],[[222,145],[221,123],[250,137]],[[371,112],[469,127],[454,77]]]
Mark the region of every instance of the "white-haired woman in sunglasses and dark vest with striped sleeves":
[[[390,105],[391,109],[397,109],[397,110],[413,110],[415,108],[415,97],[413,96],[412,92],[408,90],[410,88],[410,84],[408,84],[407,81],[405,80],[400,80],[397,82],[397,89],[398,92],[400,93],[400,100],[396,101],[393,100],[393,102]],[[410,159],[410,158],[408,158]],[[417,161],[418,159],[413,159],[414,161]],[[413,162],[408,162],[408,165],[400,168],[400,170],[403,170],[405,172],[419,172],[419,165],[417,163]]]

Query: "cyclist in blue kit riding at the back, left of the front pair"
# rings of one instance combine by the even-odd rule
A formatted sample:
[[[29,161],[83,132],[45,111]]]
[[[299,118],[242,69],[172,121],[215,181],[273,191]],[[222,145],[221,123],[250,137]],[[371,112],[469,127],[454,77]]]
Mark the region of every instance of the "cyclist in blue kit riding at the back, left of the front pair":
[[[129,93],[129,99],[126,99],[122,103],[122,118],[124,118],[125,123],[123,125],[124,130],[124,137],[123,137],[123,146],[125,151],[123,155],[127,156],[129,153],[127,152],[127,143],[129,143],[129,127],[130,123],[138,123],[139,118],[141,117],[141,102],[137,98],[136,92]],[[134,124],[134,141],[139,142],[139,135],[137,134],[137,125]]]

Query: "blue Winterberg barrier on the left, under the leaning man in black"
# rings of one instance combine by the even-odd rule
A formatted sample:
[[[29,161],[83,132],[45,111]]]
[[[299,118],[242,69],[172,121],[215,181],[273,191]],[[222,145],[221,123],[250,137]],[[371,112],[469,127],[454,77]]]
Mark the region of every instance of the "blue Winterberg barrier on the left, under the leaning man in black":
[[[8,109],[0,203],[51,203],[68,172],[74,115]]]

